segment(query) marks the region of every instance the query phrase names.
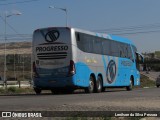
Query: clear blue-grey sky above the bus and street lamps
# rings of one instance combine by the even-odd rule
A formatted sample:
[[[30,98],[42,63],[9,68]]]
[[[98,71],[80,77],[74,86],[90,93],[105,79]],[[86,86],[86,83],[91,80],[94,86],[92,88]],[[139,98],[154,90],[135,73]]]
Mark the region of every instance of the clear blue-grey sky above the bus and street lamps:
[[[7,34],[29,34],[35,29],[68,26],[128,38],[140,52],[160,51],[160,0],[0,0],[0,16],[7,18]],[[0,19],[0,37],[4,21]],[[1,39],[1,38],[0,38]]]

